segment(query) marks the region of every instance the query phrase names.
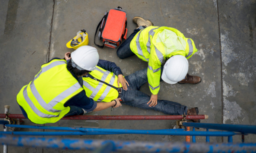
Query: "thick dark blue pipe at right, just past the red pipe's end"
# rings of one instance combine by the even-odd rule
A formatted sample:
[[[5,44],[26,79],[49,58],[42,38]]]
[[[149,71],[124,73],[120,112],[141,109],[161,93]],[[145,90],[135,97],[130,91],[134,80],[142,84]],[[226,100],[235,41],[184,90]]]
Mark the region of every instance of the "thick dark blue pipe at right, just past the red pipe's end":
[[[193,122],[184,122],[182,123],[182,125],[192,126],[196,128],[256,134],[256,125],[234,125],[234,124],[213,124],[213,123],[193,123]]]

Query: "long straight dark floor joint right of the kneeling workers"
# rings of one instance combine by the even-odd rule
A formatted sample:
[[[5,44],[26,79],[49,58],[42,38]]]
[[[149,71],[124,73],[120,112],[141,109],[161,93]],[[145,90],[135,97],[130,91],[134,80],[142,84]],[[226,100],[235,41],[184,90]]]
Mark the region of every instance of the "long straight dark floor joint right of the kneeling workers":
[[[218,12],[218,28],[219,28],[219,3],[217,0],[217,12]],[[221,55],[221,30],[219,28],[219,53]],[[223,78],[222,78],[222,55],[221,55],[221,123],[223,124]],[[221,140],[223,142],[223,137],[221,137]]]

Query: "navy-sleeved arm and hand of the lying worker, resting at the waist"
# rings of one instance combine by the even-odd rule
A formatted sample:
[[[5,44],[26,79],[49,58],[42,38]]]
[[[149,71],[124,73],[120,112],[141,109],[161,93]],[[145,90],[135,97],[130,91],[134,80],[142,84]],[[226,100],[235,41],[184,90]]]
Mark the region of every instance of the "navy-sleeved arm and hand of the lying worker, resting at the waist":
[[[124,90],[128,89],[127,85],[129,86],[129,83],[124,78],[124,75],[123,75],[121,69],[118,66],[116,66],[116,64],[114,62],[99,60],[97,66],[116,74],[116,76],[118,77],[118,79],[117,79],[118,87],[121,84]]]

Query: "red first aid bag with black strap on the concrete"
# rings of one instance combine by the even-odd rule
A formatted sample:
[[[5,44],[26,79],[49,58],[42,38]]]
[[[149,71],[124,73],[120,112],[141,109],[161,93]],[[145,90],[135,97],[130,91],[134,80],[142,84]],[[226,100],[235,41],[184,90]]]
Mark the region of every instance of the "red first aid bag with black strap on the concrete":
[[[100,27],[98,38],[99,40],[102,39],[103,45],[95,45],[100,48],[104,48],[104,46],[116,48],[121,44],[122,39],[126,39],[126,26],[126,12],[122,10],[122,7],[118,6],[115,9],[111,9],[109,12],[105,12],[104,17],[97,26],[94,36],[94,44],[97,31]]]

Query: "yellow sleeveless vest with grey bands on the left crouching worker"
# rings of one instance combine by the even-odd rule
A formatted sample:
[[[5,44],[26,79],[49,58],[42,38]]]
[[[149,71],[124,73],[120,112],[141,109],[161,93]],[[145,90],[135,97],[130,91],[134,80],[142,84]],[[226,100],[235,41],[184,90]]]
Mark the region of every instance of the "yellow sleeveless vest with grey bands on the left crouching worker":
[[[64,104],[82,90],[68,71],[67,62],[52,60],[19,91],[17,102],[33,123],[55,123],[70,111]]]

